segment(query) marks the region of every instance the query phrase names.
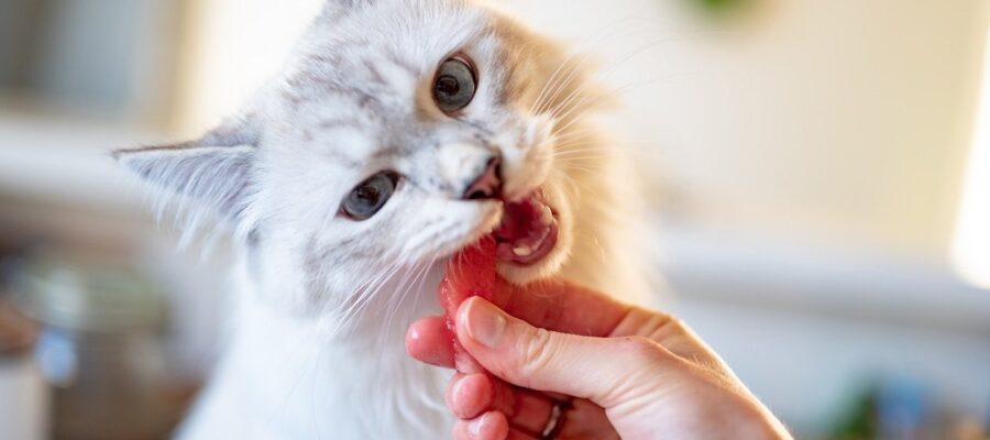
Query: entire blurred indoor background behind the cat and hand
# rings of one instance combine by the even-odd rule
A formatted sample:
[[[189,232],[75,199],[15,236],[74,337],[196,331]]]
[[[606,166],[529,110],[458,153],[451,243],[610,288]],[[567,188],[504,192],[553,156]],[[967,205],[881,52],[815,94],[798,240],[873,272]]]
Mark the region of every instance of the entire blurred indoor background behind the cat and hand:
[[[0,1],[0,439],[180,417],[228,256],[107,152],[219,121],[319,3]],[[663,306],[799,438],[990,438],[990,3],[499,3],[602,63]]]

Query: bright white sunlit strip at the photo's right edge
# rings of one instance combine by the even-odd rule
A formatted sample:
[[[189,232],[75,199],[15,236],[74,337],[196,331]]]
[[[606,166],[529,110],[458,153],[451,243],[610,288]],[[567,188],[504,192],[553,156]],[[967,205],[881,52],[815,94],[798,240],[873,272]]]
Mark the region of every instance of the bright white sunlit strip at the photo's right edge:
[[[990,288],[990,35],[972,153],[953,243],[953,263],[968,280]]]

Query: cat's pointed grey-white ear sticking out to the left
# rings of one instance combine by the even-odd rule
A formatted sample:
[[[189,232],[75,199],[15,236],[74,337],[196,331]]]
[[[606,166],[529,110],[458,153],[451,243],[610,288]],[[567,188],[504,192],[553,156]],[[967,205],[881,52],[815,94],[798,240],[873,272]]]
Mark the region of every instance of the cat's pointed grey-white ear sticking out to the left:
[[[246,204],[257,151],[252,119],[237,119],[176,145],[119,150],[113,156],[163,189],[237,219]]]

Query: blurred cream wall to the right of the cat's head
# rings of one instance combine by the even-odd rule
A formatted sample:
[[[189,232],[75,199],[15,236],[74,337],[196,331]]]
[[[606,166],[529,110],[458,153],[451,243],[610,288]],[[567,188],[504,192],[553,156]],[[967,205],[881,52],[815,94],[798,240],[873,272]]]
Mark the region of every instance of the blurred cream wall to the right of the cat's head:
[[[612,78],[640,84],[622,129],[660,152],[674,213],[944,258],[985,1],[762,1],[722,25],[681,0],[505,3],[606,59],[657,43]]]

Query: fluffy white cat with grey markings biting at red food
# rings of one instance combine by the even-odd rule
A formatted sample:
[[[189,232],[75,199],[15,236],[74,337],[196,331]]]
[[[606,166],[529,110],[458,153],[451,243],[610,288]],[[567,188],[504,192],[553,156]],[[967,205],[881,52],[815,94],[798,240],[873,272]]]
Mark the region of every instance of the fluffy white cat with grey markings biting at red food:
[[[176,436],[449,437],[451,373],[403,336],[506,202],[541,210],[499,244],[506,279],[645,293],[635,178],[592,121],[612,96],[585,59],[482,1],[328,0],[238,116],[116,152],[188,230],[237,238],[229,341]]]

